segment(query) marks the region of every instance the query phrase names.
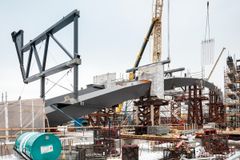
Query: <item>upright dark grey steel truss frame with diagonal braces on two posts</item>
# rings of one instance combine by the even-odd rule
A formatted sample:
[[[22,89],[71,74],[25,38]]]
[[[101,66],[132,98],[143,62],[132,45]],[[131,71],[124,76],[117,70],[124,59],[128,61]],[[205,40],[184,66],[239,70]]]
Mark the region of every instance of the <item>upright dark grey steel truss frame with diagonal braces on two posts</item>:
[[[12,39],[15,43],[15,47],[17,50],[23,82],[30,83],[41,79],[41,98],[45,98],[45,78],[47,76],[53,75],[69,68],[74,68],[73,93],[75,98],[78,97],[78,65],[81,64],[80,55],[78,54],[78,18],[79,11],[72,11],[70,14],[62,18],[60,21],[55,23],[53,26],[48,28],[46,31],[37,36],[35,39],[31,40],[26,45],[24,45],[23,30],[20,30],[18,32],[12,32]],[[73,52],[69,52],[54,36],[55,33],[60,31],[70,23],[73,23]],[[50,38],[52,38],[53,41],[64,51],[64,53],[70,58],[70,60],[62,64],[56,65],[52,68],[46,69]],[[45,41],[45,47],[43,59],[41,60],[36,46],[43,41]],[[39,72],[32,76],[29,76],[33,55],[36,59]],[[27,61],[26,66],[24,66],[24,61]]]

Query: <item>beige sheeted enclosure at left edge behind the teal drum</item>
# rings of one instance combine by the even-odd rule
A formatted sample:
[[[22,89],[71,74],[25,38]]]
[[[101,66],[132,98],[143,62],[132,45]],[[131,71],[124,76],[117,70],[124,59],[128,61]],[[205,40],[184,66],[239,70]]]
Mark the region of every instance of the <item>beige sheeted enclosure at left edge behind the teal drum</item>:
[[[8,142],[24,132],[22,129],[44,128],[44,106],[42,99],[0,103],[0,137],[5,137]]]

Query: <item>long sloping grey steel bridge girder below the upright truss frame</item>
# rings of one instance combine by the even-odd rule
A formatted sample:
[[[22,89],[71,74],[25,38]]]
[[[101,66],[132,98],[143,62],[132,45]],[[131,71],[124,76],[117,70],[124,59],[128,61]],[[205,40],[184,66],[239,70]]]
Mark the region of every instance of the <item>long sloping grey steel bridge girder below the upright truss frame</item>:
[[[150,86],[150,81],[127,82],[111,88],[89,86],[79,91],[78,101],[66,98],[71,97],[70,94],[47,100],[46,115],[50,126],[62,125],[102,108],[149,96]]]

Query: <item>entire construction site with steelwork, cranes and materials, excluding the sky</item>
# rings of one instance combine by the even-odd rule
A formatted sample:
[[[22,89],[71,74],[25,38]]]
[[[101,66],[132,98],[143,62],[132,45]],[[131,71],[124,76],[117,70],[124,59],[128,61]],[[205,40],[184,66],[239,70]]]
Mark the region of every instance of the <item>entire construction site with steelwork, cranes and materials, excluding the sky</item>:
[[[240,159],[239,60],[227,57],[224,93],[209,79],[225,48],[208,78],[194,77],[184,66],[166,67],[172,62],[170,57],[162,58],[164,2],[154,0],[151,25],[134,65],[127,68],[127,76],[96,75],[93,83],[81,89],[78,67],[84,59],[78,48],[78,10],[28,43],[23,30],[13,31],[22,80],[26,84],[40,81],[41,92],[39,99],[8,101],[3,96],[0,159]],[[208,9],[209,3],[209,14]],[[73,51],[56,36],[69,25],[73,26]],[[151,38],[152,61],[140,65]],[[50,41],[68,60],[47,68]],[[210,33],[202,41],[203,56],[210,55],[207,60],[212,59],[213,43]],[[39,45],[43,55],[37,49]],[[207,61],[204,58],[203,66]],[[31,69],[33,65],[37,71]],[[48,77],[69,70],[72,92],[46,97]]]

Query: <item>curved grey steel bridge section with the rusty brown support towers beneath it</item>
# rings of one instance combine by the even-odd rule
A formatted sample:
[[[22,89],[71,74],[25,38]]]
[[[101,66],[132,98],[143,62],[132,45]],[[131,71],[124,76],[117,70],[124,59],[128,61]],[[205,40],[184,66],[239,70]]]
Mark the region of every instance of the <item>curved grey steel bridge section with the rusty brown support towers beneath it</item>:
[[[176,97],[178,101],[185,101],[188,104],[188,124],[201,126],[205,122],[224,122],[223,94],[213,83],[198,78],[168,78],[164,79],[164,90],[182,88],[185,95]],[[203,95],[203,88],[209,89],[209,97]],[[208,101],[208,116],[203,114],[203,101]]]

